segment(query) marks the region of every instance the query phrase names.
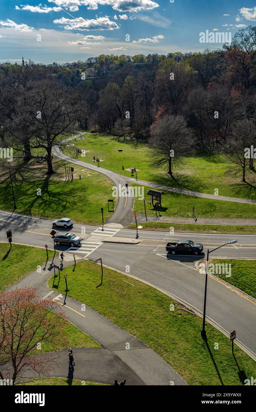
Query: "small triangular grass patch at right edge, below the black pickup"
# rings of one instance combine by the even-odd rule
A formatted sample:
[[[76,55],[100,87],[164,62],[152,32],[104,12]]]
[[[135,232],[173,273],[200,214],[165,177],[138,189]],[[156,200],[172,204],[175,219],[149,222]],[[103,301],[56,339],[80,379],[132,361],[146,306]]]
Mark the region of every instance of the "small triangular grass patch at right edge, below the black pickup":
[[[256,299],[256,261],[255,260],[236,260],[236,259],[210,259],[214,265],[231,264],[231,276],[225,274],[215,274],[218,278],[231,283],[231,285],[242,290]],[[213,273],[214,274],[214,273]]]

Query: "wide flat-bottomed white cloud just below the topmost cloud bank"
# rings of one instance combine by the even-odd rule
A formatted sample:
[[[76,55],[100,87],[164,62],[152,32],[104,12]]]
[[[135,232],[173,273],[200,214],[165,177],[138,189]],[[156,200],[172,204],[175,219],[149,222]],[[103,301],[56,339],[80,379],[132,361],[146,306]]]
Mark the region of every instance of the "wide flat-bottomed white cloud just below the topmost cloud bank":
[[[76,19],[62,17],[53,20],[53,23],[64,25],[65,30],[114,30],[119,28],[117,23],[109,20],[106,16],[90,20],[85,20],[83,17],[77,17]]]

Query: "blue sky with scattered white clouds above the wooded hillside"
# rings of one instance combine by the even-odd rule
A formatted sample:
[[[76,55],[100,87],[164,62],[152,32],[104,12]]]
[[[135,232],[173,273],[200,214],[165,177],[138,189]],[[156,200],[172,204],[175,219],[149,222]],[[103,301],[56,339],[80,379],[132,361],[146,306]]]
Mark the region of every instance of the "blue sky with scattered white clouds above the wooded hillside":
[[[65,63],[99,54],[195,52],[206,30],[256,26],[252,1],[1,0],[0,63]],[[129,41],[126,41],[126,35]]]

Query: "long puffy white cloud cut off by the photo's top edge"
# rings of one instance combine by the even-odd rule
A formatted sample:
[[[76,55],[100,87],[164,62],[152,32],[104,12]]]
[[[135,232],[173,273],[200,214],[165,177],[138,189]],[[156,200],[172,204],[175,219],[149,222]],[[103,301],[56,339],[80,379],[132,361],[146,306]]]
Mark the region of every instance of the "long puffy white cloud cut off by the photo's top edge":
[[[159,5],[152,0],[48,0],[60,7],[67,7],[71,12],[79,10],[80,6],[88,6],[89,10],[96,10],[98,5],[112,6],[118,12],[140,12],[152,10]]]

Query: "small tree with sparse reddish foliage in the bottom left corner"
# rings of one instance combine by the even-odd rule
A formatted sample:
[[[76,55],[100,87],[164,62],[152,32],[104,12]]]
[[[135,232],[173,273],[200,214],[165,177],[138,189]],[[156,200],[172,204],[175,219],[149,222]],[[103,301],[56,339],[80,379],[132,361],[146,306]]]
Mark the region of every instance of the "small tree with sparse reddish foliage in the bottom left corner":
[[[52,311],[57,312],[53,314]],[[24,379],[37,372],[49,375],[55,370],[57,356],[34,355],[39,344],[65,345],[67,321],[60,305],[41,299],[35,288],[16,288],[0,293],[0,378]]]

